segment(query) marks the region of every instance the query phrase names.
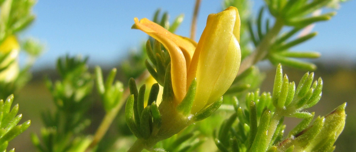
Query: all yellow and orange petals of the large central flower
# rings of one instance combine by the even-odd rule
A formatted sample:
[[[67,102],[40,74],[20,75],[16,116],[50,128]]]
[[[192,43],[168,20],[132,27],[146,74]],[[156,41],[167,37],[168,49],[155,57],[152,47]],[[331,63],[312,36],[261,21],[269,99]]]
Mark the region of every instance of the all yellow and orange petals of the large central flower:
[[[241,62],[240,16],[235,7],[210,14],[198,44],[170,33],[147,18],[134,20],[135,28],[158,40],[169,52],[177,105],[194,78],[197,78],[197,90],[192,113],[215,102],[229,89]]]

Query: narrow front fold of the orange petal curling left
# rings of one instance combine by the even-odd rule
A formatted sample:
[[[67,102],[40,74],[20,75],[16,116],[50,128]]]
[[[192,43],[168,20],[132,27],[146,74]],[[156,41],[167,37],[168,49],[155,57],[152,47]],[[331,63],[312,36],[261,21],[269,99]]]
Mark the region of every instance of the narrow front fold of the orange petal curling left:
[[[176,98],[177,104],[180,103],[187,92],[187,63],[182,50],[171,38],[168,37],[172,35],[167,34],[168,31],[163,27],[149,21],[148,19],[141,19],[141,22],[145,24],[139,22],[137,18],[134,20],[136,28],[152,36],[152,38],[162,43],[162,45],[168,50],[169,56],[171,57],[171,78],[174,97]],[[165,30],[167,32],[164,32]]]

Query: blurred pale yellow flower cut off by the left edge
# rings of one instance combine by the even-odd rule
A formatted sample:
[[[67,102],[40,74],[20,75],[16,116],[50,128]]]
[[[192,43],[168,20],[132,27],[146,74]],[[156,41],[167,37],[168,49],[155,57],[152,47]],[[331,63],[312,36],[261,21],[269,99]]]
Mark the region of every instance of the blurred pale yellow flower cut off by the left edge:
[[[6,68],[0,72],[0,81],[11,82],[19,75],[19,64],[17,56],[19,55],[20,45],[14,35],[8,36],[0,45],[0,56],[7,57],[0,63],[0,68]]]

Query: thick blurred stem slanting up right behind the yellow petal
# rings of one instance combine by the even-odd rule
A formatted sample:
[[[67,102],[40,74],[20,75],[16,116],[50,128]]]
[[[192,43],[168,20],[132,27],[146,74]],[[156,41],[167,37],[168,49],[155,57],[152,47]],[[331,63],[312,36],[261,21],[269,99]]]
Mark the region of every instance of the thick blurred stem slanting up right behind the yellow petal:
[[[284,23],[282,19],[277,18],[274,26],[271,30],[268,31],[265,37],[263,37],[261,43],[256,47],[256,50],[241,62],[237,76],[267,56],[269,47],[271,47],[271,44],[273,44],[273,42],[276,40],[278,33],[282,30],[283,26]]]

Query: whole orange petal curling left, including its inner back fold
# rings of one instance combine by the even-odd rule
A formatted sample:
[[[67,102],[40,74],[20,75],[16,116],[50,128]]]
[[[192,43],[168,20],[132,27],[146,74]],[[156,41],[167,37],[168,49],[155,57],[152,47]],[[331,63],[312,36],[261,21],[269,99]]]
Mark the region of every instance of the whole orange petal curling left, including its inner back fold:
[[[187,92],[187,67],[195,50],[194,41],[170,33],[168,30],[151,22],[147,18],[138,21],[135,18],[137,29],[142,30],[158,40],[168,50],[171,57],[171,78],[176,103],[181,102]]]

